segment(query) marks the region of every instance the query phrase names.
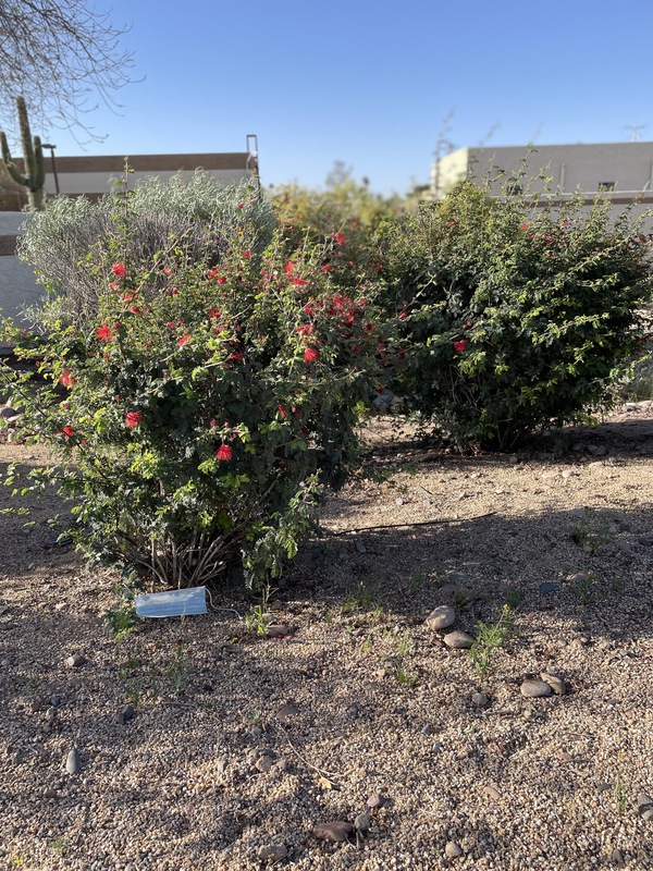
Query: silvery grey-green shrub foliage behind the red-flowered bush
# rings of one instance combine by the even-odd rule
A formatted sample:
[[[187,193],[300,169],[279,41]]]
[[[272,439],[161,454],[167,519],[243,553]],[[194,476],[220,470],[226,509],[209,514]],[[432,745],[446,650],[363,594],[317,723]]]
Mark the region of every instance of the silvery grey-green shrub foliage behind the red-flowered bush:
[[[126,173],[128,179],[128,173]],[[106,263],[107,248],[126,263],[143,263],[161,250],[182,249],[189,261],[209,265],[222,259],[227,240],[245,224],[258,228],[264,248],[275,224],[271,204],[247,183],[224,185],[197,171],[169,180],[148,176],[134,191],[107,194],[91,203],[86,197],[57,197],[29,220],[17,254],[29,263],[46,290],[59,297],[48,312],[32,310],[36,323],[63,316],[77,324],[97,312],[100,281],[93,269]],[[128,198],[130,233],[122,216]],[[126,247],[125,247],[126,242]],[[102,256],[100,256],[102,252]]]

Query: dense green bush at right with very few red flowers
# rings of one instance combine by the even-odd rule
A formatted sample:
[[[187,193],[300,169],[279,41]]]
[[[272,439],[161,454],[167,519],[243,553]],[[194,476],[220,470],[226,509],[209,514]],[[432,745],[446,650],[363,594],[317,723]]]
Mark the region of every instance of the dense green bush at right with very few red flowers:
[[[605,408],[641,345],[650,244],[608,206],[558,211],[463,183],[386,225],[397,390],[459,447],[515,445]]]

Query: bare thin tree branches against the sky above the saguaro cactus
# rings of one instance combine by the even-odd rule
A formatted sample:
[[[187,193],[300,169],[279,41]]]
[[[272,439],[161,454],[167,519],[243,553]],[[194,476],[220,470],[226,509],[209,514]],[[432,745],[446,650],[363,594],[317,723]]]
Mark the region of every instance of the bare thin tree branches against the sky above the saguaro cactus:
[[[101,138],[87,113],[98,101],[116,108],[114,91],[132,81],[125,32],[85,0],[0,0],[0,124],[23,96],[41,125]]]

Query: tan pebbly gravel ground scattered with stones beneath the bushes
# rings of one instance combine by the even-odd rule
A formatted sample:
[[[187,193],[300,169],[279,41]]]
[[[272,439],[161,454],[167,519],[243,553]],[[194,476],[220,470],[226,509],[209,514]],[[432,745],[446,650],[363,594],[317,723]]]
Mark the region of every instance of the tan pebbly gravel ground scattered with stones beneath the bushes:
[[[461,458],[378,425],[394,477],[325,503],[278,637],[234,587],[112,640],[115,578],[42,547],[54,501],[3,517],[0,868],[653,869],[653,404],[567,437]]]

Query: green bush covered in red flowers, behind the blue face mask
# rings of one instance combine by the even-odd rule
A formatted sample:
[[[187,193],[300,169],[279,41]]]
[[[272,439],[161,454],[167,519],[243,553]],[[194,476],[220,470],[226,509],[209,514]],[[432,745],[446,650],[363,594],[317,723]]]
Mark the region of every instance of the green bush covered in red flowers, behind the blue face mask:
[[[46,338],[10,329],[44,379],[5,371],[11,403],[53,457],[22,483],[11,470],[10,483],[53,483],[91,561],[155,584],[220,579],[234,563],[250,582],[275,576],[321,484],[355,458],[358,407],[374,387],[373,307],[340,293],[331,248],[292,250],[273,234],[260,250],[257,213],[238,216],[219,246],[211,234],[207,250],[169,238],[150,255],[130,206],[75,265],[94,305],[66,308],[53,294],[39,315]],[[61,226],[51,214],[37,238]]]

